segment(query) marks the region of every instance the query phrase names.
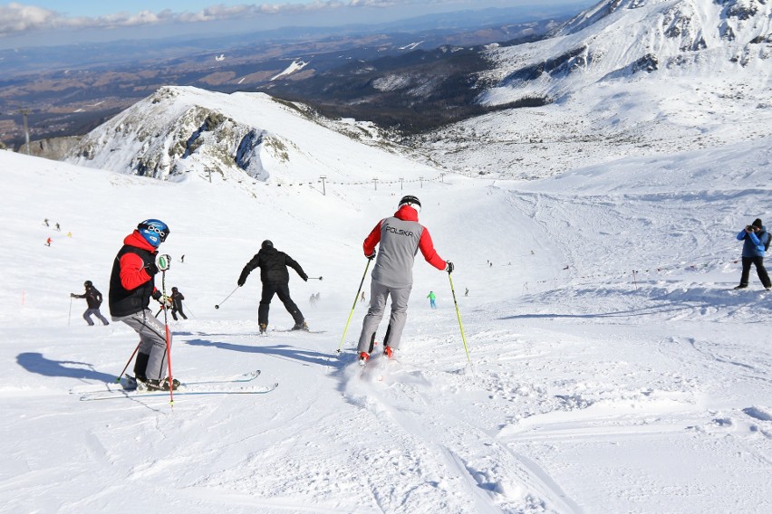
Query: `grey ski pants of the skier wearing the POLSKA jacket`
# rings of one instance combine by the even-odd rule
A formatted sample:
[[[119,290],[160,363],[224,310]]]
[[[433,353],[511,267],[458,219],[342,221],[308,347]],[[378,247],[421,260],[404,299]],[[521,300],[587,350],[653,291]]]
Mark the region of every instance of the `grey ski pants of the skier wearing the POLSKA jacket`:
[[[383,337],[383,346],[390,346],[394,349],[400,347],[402,330],[405,328],[405,322],[408,319],[408,300],[410,299],[410,290],[412,285],[404,288],[390,288],[383,284],[372,281],[370,284],[370,309],[362,321],[362,334],[359,336],[359,345],[357,352],[372,351],[370,347],[375,331],[383,318],[383,312],[386,310],[386,300],[391,296],[391,315],[389,317],[389,328],[386,328],[386,335]]]

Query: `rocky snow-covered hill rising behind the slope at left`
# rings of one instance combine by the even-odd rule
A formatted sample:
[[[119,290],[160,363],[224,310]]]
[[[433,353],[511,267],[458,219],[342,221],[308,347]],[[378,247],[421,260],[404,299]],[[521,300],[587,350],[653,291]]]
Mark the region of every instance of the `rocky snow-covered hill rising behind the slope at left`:
[[[333,124],[263,93],[164,87],[92,130],[66,160],[161,179],[208,170],[273,185],[316,183],[319,176],[349,182],[439,176],[390,152],[372,124],[343,121],[332,130],[321,122]],[[355,162],[352,154],[366,157]]]

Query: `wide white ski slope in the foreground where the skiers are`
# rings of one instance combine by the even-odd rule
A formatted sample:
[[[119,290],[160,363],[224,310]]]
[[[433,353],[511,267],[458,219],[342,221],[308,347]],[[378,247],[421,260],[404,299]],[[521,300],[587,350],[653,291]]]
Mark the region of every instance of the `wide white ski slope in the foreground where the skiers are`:
[[[772,303],[755,276],[731,288],[735,234],[772,220],[769,143],[327,195],[0,152],[0,511],[767,512]],[[367,164],[388,167],[379,155]],[[457,265],[473,366],[448,275],[419,258],[399,362],[360,376],[364,303],[342,337],[362,239],[404,193]],[[84,280],[106,293],[123,236],[147,217],[169,223],[165,285],[186,295],[190,319],[170,323],[175,376],[259,368],[273,393],[79,400],[120,373],[136,335],[86,327],[69,294]],[[290,281],[323,333],[279,331],[292,319],[275,300],[273,331],[256,335],[259,281],[235,288],[265,238],[323,276]]]

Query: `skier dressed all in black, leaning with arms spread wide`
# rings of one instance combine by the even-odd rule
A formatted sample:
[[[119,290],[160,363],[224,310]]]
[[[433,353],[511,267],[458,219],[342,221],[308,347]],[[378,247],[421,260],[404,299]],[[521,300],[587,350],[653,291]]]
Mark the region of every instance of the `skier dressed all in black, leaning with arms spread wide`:
[[[260,333],[265,333],[268,328],[268,309],[274,295],[279,296],[279,300],[285,304],[287,312],[294,319],[293,330],[308,330],[303,313],[297,308],[289,293],[289,272],[287,266],[292,268],[300,275],[304,281],[308,281],[308,275],[305,274],[300,264],[294,261],[292,257],[285,252],[279,252],[274,248],[274,243],[267,239],[260,245],[260,251],[257,252],[251,261],[246,263],[241,276],[238,277],[238,287],[246,283],[246,277],[255,268],[260,268],[260,280],[263,281],[263,294],[260,297],[260,307],[257,309],[257,322],[260,324]]]

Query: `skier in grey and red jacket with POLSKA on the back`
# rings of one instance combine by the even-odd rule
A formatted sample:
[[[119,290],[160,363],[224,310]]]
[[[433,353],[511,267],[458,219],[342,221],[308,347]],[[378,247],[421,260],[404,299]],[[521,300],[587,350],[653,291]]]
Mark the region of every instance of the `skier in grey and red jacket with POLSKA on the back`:
[[[413,263],[420,250],[426,262],[441,271],[453,272],[453,263],[444,261],[434,250],[429,230],[418,221],[420,201],[413,195],[403,196],[397,212],[384,218],[362,244],[364,255],[375,259],[375,246],[380,243],[381,252],[372,268],[370,284],[370,309],[362,320],[357,353],[360,362],[370,358],[375,346],[375,331],[383,318],[386,300],[391,296],[391,315],[386,335],[383,337],[383,353],[393,357],[400,347],[402,330],[408,318],[408,300],[413,287]]]

